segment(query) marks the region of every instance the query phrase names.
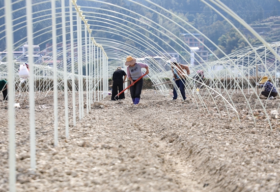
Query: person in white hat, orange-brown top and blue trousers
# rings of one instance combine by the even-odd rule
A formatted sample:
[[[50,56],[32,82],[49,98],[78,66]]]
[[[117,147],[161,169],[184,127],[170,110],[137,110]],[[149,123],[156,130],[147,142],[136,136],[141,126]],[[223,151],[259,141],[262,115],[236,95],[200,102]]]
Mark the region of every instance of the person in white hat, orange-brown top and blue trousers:
[[[177,99],[178,95],[177,95],[177,88],[180,88],[180,92],[181,95],[183,97],[183,99],[186,99],[186,94],[185,94],[185,83],[186,83],[186,75],[189,75],[189,68],[186,65],[182,65],[180,63],[177,63],[177,59],[176,58],[171,58],[170,59],[171,62],[171,68],[172,68],[172,72],[173,72],[173,80],[175,79],[179,79],[179,80],[175,80],[176,83],[176,87],[174,87],[173,89],[173,101]],[[184,71],[186,70],[186,72]]]

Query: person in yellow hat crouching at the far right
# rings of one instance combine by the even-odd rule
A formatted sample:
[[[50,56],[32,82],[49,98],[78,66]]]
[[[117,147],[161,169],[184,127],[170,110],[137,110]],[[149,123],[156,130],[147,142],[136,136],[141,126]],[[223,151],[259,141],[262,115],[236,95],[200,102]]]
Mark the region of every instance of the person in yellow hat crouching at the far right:
[[[278,93],[274,85],[267,78],[267,76],[264,76],[259,83],[256,83],[256,85],[260,87],[264,87],[264,91],[262,91],[261,94],[264,95],[265,97],[268,97],[269,100],[276,99],[275,97],[278,95]]]

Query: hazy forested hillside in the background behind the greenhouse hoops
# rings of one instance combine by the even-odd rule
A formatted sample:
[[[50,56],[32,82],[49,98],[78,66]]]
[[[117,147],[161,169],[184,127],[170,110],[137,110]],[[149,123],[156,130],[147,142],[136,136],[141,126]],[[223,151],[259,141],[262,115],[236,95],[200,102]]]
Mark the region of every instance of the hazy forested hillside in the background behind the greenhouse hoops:
[[[133,3],[135,2],[135,3]],[[209,39],[218,45],[223,51],[227,54],[246,47],[246,42],[242,39],[241,35],[237,33],[233,29],[233,27],[226,22],[226,20],[221,17],[218,13],[213,11],[208,5],[201,0],[152,0],[151,2],[161,6],[155,6],[150,3],[150,1],[138,0],[138,1],[127,1],[127,0],[104,0],[104,1],[84,1],[78,0],[77,4],[80,5],[85,12],[86,16],[91,18],[91,25],[94,25],[94,29],[92,32],[92,36],[102,37],[111,40],[117,40],[120,42],[128,43],[132,46],[136,46],[141,50],[145,50],[145,48],[140,43],[135,43],[131,40],[127,40],[126,37],[120,35],[120,33],[116,33],[114,27],[112,27],[111,23],[114,23],[115,26],[121,26],[120,20],[125,20],[125,24],[129,27],[131,24],[129,22],[137,22],[132,17],[139,19],[140,21],[144,21],[149,23],[150,26],[143,25],[141,22],[137,22],[136,30],[139,33],[139,37],[143,37],[145,39],[150,39],[155,45],[161,46],[163,49],[168,51],[169,46],[177,46],[174,41],[171,41],[170,35],[168,32],[165,32],[166,35],[160,34],[158,31],[164,31],[164,29],[168,29],[170,32],[174,33],[176,36],[180,36],[180,33],[186,33],[186,31],[191,33],[197,33],[192,27],[187,25],[185,22],[178,20],[175,18],[170,12],[178,15],[182,20],[188,22],[193,27],[197,28],[199,31],[204,33]],[[207,0],[205,2],[208,2]],[[278,27],[280,25],[280,18],[278,17],[280,11],[280,2],[277,0],[221,0],[226,6],[232,9],[236,14],[238,14],[244,21],[250,24],[257,32],[263,35],[265,40],[269,43],[280,41],[278,35]],[[41,4],[38,4],[41,3]],[[60,6],[60,1],[57,1],[57,7]],[[66,1],[66,6],[68,1]],[[142,4],[144,6],[140,6],[138,4]],[[209,2],[208,2],[209,3]],[[44,0],[33,0],[33,10],[36,12],[34,16],[42,16],[42,18],[47,18],[47,14],[50,14],[51,4],[50,1]],[[116,7],[116,6],[117,7]],[[14,1],[13,9],[20,9],[25,6],[25,1]],[[119,6],[119,7],[118,7]],[[4,0],[0,0],[0,12],[4,13]],[[125,9],[121,9],[125,8]],[[250,37],[250,34],[246,33],[246,30],[242,25],[240,25],[235,19],[227,15],[217,6],[213,6],[215,9],[220,11],[223,15],[226,16],[235,26],[237,26],[244,34],[247,36],[249,42],[252,45],[260,44],[259,41],[256,41],[254,37]],[[130,12],[132,11],[132,12]],[[170,11],[170,12],[169,12]],[[162,15],[160,15],[160,14]],[[4,15],[4,14],[2,14]],[[20,11],[14,12],[14,18],[22,19],[20,21],[24,21],[25,19],[25,9],[21,9]],[[177,21],[181,26],[174,25],[170,20],[165,17],[173,19]],[[69,20],[69,18],[66,18]],[[108,23],[104,23],[104,19]],[[159,25],[154,25],[149,20],[158,23]],[[4,23],[4,17],[0,18],[0,51],[5,50],[5,40],[1,39],[5,32],[3,32],[5,26],[2,25]],[[57,18],[57,21],[60,22],[61,18]],[[14,23],[14,39],[16,42],[15,47],[19,47],[26,42],[26,28],[24,25],[25,22]],[[49,22],[49,23],[48,23]],[[51,32],[49,32],[48,28],[45,26],[50,26],[50,20],[38,21],[34,25],[34,32],[36,31],[46,31],[44,35],[38,36],[34,39],[35,44],[39,44],[40,42],[46,42],[51,37]],[[48,23],[48,24],[47,24]],[[123,23],[123,22],[122,22]],[[135,26],[133,26],[135,27]],[[183,30],[183,29],[184,30]],[[17,31],[18,29],[18,31]],[[150,31],[148,33],[144,29]],[[105,30],[106,33],[102,32]],[[118,28],[119,30],[119,28]],[[121,30],[125,30],[124,28]],[[48,31],[48,32],[47,32]],[[110,33],[111,31],[111,33]],[[165,30],[166,31],[166,30]],[[58,34],[61,34],[61,30],[58,30]],[[158,37],[151,35],[157,34]],[[172,37],[174,39],[174,37]],[[62,41],[61,38],[58,39],[58,42]],[[51,43],[51,42],[46,42]],[[206,46],[212,48],[213,51],[216,50],[216,47],[212,45],[211,42],[206,41]],[[167,46],[168,45],[168,46]],[[41,49],[45,48],[44,45],[40,45]],[[180,47],[176,47],[176,49],[180,50]],[[215,52],[219,55],[218,52]]]

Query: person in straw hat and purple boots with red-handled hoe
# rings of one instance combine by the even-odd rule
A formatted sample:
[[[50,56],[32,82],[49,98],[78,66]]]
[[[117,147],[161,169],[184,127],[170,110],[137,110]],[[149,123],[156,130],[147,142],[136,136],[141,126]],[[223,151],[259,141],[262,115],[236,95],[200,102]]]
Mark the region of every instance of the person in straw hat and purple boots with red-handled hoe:
[[[149,67],[145,63],[136,63],[136,59],[131,56],[127,56],[125,65],[127,67],[127,77],[130,81],[130,95],[133,101],[133,104],[136,105],[140,101],[140,95],[143,87],[143,79],[138,80],[135,84],[134,81],[139,79],[142,76],[141,68],[146,68],[146,73],[149,74]]]

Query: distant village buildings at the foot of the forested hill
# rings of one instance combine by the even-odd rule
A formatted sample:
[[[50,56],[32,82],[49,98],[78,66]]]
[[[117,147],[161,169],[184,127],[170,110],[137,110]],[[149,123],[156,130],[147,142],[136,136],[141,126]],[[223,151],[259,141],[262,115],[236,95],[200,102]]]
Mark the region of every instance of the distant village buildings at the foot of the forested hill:
[[[191,59],[190,59],[190,64],[192,66],[199,65],[200,62],[208,62],[208,56],[209,56],[209,51],[204,50],[204,37],[201,34],[188,34],[188,33],[181,33],[180,36],[184,40],[184,42],[188,45],[186,49],[190,50],[191,54]],[[199,41],[198,41],[199,40]],[[29,45],[24,44],[22,47],[18,48],[18,51],[14,51],[14,60],[19,61],[19,62],[27,62],[29,55],[27,53]],[[70,44],[67,44],[67,63],[70,63],[71,61],[71,50],[70,50]],[[74,46],[76,47],[76,46]],[[83,49],[85,49],[83,47]],[[59,67],[63,67],[63,43],[59,43],[57,45],[57,63]],[[194,54],[196,53],[196,54]],[[182,62],[184,64],[185,61],[180,58],[179,54],[177,52],[163,52],[161,54],[155,54],[152,53],[151,51],[147,50],[146,54],[148,55],[145,58],[138,58],[139,60],[143,60],[148,62],[149,59],[156,60],[158,63],[161,64],[161,66],[164,69],[168,69],[168,65],[165,65],[166,63],[164,62],[163,57],[174,57],[176,58],[179,62]],[[6,61],[6,55],[7,52],[0,52],[0,61],[5,62]],[[74,58],[77,57],[77,49],[74,49]],[[34,45],[33,46],[33,58],[34,58],[34,63],[35,64],[43,64],[43,65],[48,65],[50,67],[53,66],[53,59],[52,59],[52,44],[47,43],[45,45],[45,49],[41,51],[39,45]]]

